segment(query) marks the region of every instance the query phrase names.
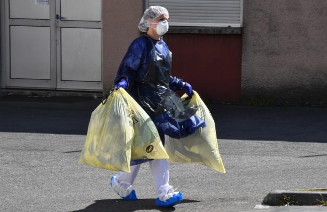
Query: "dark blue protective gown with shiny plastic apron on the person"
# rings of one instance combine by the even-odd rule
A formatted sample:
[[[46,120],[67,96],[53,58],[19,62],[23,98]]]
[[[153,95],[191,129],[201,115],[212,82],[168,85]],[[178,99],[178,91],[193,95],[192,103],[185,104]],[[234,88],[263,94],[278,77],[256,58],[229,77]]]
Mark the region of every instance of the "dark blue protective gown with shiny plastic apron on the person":
[[[126,90],[152,119],[163,145],[165,134],[173,138],[183,138],[200,127],[205,127],[204,121],[195,115],[196,110],[186,116],[185,112],[192,110],[185,110],[181,99],[173,92],[183,89],[183,79],[171,76],[171,66],[172,53],[162,37],[157,41],[148,36],[140,36],[128,47],[115,77],[115,84],[122,78],[126,79]],[[173,110],[180,112],[176,113],[179,117],[171,113],[171,110],[168,110],[170,113],[158,113],[160,102],[162,110],[167,111],[162,101],[173,102],[173,107],[169,105],[168,108],[179,108]],[[131,161],[131,165],[145,161]]]

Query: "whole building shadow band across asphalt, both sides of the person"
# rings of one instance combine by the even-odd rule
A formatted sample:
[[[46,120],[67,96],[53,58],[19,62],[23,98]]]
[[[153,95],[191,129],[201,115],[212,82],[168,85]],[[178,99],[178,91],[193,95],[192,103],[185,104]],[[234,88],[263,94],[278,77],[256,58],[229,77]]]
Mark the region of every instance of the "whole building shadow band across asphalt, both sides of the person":
[[[86,135],[93,97],[0,98],[0,132]],[[208,104],[218,139],[327,143],[327,108]]]

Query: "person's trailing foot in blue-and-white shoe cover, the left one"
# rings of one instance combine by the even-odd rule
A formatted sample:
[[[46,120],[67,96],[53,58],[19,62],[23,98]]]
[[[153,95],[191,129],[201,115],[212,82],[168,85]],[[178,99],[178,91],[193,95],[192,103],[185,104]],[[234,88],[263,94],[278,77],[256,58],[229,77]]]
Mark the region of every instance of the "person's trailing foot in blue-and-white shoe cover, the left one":
[[[112,189],[125,200],[137,200],[135,190],[132,185],[119,183],[116,176],[111,177],[110,185]]]

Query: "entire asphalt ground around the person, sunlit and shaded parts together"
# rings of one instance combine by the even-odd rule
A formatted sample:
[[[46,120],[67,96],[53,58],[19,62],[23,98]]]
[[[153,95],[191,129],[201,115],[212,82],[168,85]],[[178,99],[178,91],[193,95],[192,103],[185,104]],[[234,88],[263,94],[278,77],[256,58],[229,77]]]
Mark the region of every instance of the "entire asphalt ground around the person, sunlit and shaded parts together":
[[[170,184],[185,200],[158,208],[148,164],[134,183],[139,200],[123,201],[109,186],[116,172],[77,163],[99,103],[0,98],[0,211],[327,211],[255,209],[273,190],[327,187],[327,108],[209,104],[226,173],[170,163]]]

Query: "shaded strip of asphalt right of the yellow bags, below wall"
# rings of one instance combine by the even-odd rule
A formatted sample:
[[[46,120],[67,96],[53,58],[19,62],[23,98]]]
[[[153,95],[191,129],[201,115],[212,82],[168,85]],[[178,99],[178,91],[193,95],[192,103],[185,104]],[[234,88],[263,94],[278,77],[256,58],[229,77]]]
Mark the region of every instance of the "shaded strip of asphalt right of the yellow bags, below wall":
[[[218,139],[327,143],[327,108],[209,104]]]

